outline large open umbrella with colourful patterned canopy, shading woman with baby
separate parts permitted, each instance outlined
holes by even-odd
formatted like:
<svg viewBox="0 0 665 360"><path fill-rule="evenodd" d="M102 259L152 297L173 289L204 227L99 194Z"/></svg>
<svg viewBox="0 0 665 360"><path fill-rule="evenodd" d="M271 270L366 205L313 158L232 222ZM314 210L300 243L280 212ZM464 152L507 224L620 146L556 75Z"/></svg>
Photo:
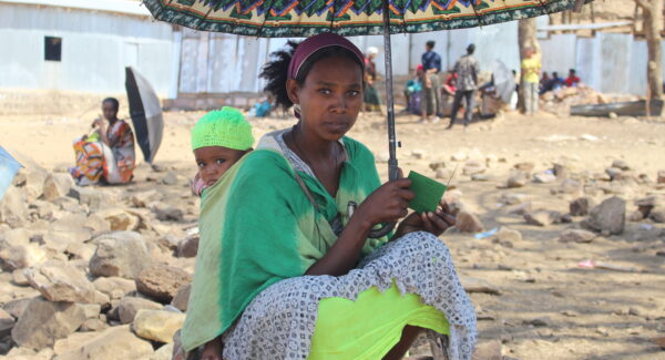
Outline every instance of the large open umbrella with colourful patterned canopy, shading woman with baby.
<svg viewBox="0 0 665 360"><path fill-rule="evenodd" d="M383 35L388 176L398 177L390 34L489 25L580 10L593 0L143 0L157 20L201 31L265 38ZM395 225L395 224L392 224ZM389 226L383 230L390 230ZM386 234L388 232L385 232ZM377 233L377 235L380 233Z"/></svg>

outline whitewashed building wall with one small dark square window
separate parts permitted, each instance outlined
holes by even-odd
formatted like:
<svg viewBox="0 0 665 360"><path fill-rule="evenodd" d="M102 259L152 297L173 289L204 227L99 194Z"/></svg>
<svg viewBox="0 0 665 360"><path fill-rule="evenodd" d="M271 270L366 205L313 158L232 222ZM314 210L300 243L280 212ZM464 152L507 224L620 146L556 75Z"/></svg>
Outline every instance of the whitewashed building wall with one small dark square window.
<svg viewBox="0 0 665 360"><path fill-rule="evenodd" d="M60 62L44 61L44 37L62 38ZM122 93L132 65L158 94L175 93L173 37L144 17L1 3L0 88Z"/></svg>

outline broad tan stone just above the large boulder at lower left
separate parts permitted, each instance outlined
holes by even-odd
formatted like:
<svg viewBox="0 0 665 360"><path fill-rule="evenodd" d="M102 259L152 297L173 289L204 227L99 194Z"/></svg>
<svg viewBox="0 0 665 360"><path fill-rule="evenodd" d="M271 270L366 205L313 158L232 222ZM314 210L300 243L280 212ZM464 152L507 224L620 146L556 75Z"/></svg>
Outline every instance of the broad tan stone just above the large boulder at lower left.
<svg viewBox="0 0 665 360"><path fill-rule="evenodd" d="M49 301L94 302L92 282L82 271L64 261L49 260L27 269L25 277Z"/></svg>

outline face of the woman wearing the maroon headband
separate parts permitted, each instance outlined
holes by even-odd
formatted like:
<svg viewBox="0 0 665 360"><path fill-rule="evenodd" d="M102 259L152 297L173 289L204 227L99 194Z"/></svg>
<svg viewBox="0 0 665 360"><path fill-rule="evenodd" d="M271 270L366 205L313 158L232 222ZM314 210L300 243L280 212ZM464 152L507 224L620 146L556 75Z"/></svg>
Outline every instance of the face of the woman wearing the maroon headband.
<svg viewBox="0 0 665 360"><path fill-rule="evenodd" d="M362 106L362 70L347 56L325 58L311 66L303 85L289 80L287 90L300 105L306 131L338 141L351 130Z"/></svg>

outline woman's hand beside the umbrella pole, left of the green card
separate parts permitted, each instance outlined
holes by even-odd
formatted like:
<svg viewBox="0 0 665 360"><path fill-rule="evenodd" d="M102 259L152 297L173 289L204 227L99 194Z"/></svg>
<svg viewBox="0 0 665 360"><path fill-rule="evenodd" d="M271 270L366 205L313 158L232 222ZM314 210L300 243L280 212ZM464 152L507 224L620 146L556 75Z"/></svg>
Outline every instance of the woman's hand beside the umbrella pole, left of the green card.
<svg viewBox="0 0 665 360"><path fill-rule="evenodd" d="M352 217L364 220L370 228L380 223L397 222L407 216L409 202L416 194L409 189L408 178L393 179L381 185L362 202Z"/></svg>

